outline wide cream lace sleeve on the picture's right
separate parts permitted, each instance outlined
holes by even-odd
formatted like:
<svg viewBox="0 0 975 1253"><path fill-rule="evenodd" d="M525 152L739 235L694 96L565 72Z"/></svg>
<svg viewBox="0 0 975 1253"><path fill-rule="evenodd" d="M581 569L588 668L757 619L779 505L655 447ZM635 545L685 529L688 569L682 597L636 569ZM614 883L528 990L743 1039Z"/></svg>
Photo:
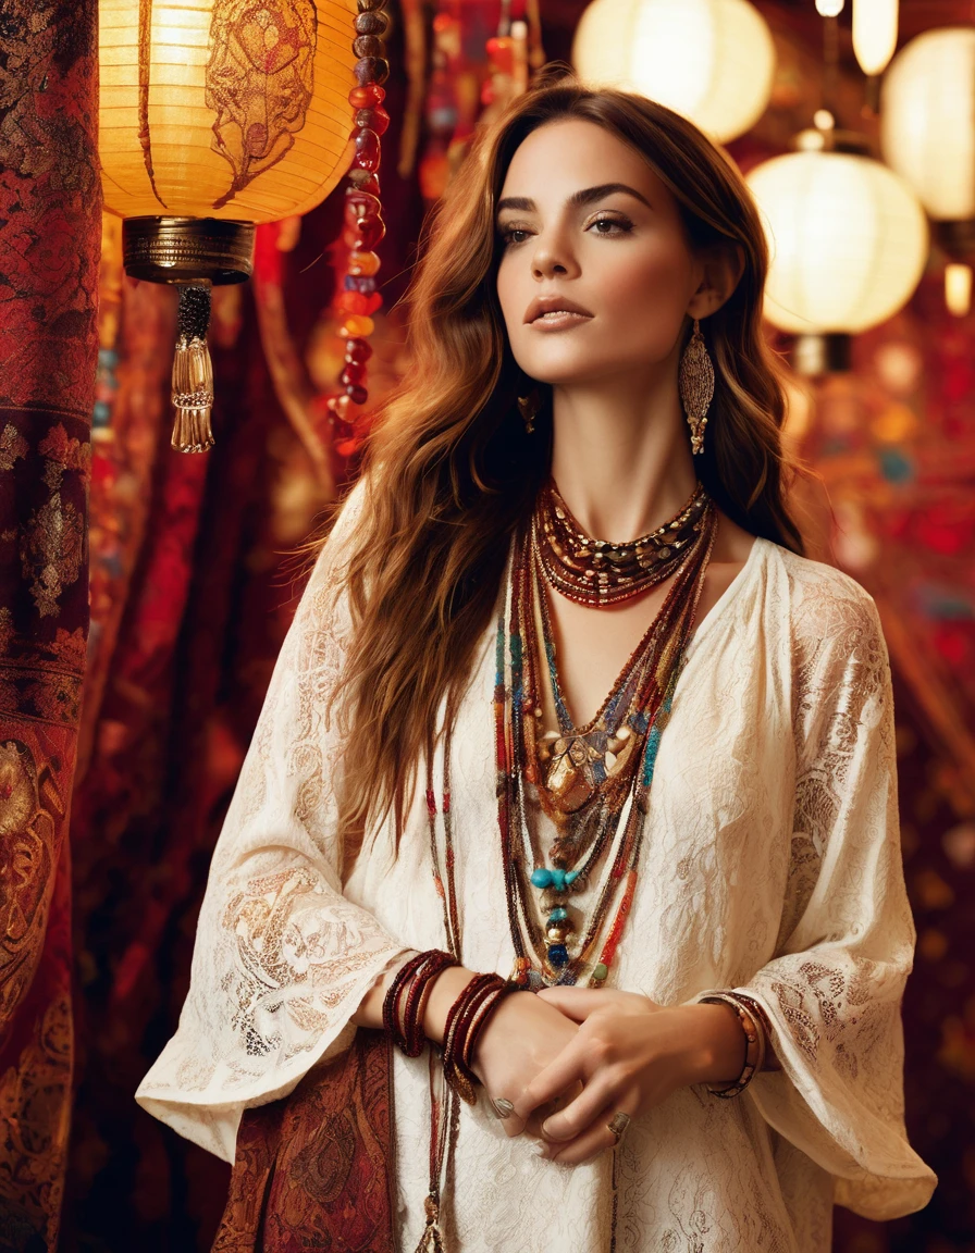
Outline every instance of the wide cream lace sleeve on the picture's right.
<svg viewBox="0 0 975 1253"><path fill-rule="evenodd" d="M778 1073L764 1119L873 1219L921 1209L935 1177L904 1125L901 996L915 930L904 885L890 665L876 605L823 571L793 584L796 798L776 959L741 987Z"/></svg>

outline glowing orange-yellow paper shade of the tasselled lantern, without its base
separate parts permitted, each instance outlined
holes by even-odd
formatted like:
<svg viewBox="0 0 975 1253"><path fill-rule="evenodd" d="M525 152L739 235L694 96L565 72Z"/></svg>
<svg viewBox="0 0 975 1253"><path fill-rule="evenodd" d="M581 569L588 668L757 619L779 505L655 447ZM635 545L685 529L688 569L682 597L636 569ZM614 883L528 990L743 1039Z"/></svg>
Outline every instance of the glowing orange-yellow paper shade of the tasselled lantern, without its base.
<svg viewBox="0 0 975 1253"><path fill-rule="evenodd" d="M352 160L355 0L99 3L105 205L273 222Z"/></svg>

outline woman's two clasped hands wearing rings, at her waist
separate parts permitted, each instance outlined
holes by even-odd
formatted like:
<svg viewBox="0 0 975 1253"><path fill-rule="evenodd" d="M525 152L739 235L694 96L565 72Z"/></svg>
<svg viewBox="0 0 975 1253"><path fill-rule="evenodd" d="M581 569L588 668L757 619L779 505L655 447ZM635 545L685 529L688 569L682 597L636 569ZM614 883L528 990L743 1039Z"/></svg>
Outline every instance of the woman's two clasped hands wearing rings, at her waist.
<svg viewBox="0 0 975 1253"><path fill-rule="evenodd" d="M742 1032L719 1005L663 1007L639 992L546 987L508 996L484 1030L474 1069L503 1125L541 1141L539 1155L588 1162L618 1141L615 1114L638 1118L675 1089L731 1083Z"/></svg>

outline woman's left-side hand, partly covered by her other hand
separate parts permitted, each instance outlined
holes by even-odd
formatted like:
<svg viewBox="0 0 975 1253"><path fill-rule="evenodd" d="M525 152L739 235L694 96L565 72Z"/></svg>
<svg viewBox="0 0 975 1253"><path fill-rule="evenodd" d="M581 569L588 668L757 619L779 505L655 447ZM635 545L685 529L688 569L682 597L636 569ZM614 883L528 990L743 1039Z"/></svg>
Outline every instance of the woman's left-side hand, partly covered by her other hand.
<svg viewBox="0 0 975 1253"><path fill-rule="evenodd" d="M515 1109L528 1085L560 1056L579 1034L575 1022L531 992L511 992L488 1020L471 1059L472 1070L493 1099L510 1100ZM574 1095L579 1085L566 1084ZM561 1096L563 1091L554 1094ZM528 1131L541 1135L541 1121L558 1108L558 1100L534 1101L524 1116L501 1119L508 1135Z"/></svg>

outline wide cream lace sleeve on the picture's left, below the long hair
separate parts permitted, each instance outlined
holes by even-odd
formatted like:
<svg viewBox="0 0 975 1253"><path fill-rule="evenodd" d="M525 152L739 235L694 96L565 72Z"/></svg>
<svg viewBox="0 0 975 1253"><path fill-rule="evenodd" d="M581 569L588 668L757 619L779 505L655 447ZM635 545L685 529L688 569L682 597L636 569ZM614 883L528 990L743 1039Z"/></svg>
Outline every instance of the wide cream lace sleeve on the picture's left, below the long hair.
<svg viewBox="0 0 975 1253"><path fill-rule="evenodd" d="M326 702L348 611L346 501L298 605L211 865L179 1027L137 1091L150 1114L228 1162L243 1110L289 1093L347 1046L363 994L406 950L341 891L340 728Z"/></svg>

